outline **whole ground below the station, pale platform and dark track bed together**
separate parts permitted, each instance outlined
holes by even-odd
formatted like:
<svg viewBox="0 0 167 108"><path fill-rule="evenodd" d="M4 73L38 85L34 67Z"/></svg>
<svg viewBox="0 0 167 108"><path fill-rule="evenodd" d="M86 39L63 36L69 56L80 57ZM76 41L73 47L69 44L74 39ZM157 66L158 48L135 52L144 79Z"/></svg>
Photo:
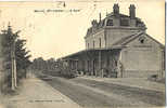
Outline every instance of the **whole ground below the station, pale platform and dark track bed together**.
<svg viewBox="0 0 167 108"><path fill-rule="evenodd" d="M145 82L138 85L134 81L128 85L125 83L128 81L127 79L91 77L65 79L48 75L43 77L31 75L23 81L18 95L7 98L5 105L9 105L7 108L147 108L165 106L165 84L149 82L149 83L144 80L136 80L136 82Z"/></svg>

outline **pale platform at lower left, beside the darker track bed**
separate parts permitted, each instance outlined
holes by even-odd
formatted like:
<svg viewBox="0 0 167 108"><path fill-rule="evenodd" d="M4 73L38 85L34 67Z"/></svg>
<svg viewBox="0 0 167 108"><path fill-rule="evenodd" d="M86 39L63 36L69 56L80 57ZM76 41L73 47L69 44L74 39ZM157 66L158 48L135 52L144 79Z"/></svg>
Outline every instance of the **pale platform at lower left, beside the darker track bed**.
<svg viewBox="0 0 167 108"><path fill-rule="evenodd" d="M17 94L5 96L0 108L79 108L79 106L44 81L31 77L23 80Z"/></svg>

